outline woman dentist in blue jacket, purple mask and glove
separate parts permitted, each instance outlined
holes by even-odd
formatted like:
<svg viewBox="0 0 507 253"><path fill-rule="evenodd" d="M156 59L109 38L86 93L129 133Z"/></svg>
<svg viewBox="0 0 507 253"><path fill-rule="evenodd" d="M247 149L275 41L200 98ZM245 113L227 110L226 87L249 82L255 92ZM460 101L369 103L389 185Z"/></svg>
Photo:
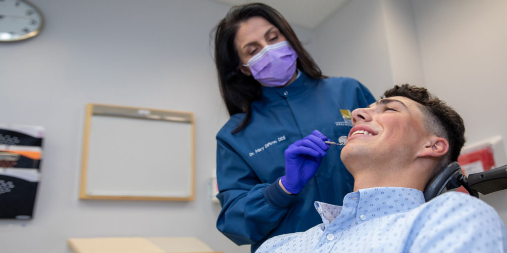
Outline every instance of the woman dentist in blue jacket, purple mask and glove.
<svg viewBox="0 0 507 253"><path fill-rule="evenodd" d="M216 227L253 252L268 238L321 223L314 201L342 204L353 178L340 160L341 146L323 141L348 135L350 112L375 99L355 79L322 75L291 26L267 5L231 8L213 36L231 116L216 135L222 205ZM297 145L308 142L315 149ZM322 149L327 152L316 151ZM301 159L315 152L317 158Z"/></svg>

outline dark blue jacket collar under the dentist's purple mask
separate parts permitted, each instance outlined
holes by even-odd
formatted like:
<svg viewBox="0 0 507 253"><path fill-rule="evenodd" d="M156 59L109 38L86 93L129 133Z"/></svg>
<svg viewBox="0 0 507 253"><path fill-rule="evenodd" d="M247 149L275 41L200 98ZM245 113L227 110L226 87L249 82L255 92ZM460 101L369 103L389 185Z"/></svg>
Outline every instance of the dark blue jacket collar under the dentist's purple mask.
<svg viewBox="0 0 507 253"><path fill-rule="evenodd" d="M278 100L292 97L306 91L308 87L315 85L312 79L303 71L297 70L296 80L285 87L265 87L261 86L263 100Z"/></svg>

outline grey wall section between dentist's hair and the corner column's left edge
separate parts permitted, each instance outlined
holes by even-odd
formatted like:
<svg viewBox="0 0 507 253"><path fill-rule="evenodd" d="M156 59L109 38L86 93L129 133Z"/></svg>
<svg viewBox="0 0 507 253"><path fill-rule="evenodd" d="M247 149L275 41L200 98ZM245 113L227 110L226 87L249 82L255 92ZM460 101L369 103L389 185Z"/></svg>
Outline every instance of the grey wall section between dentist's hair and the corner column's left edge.
<svg viewBox="0 0 507 253"><path fill-rule="evenodd" d="M312 56L328 76L354 77L378 97L392 83L381 2L351 1L315 29Z"/></svg>

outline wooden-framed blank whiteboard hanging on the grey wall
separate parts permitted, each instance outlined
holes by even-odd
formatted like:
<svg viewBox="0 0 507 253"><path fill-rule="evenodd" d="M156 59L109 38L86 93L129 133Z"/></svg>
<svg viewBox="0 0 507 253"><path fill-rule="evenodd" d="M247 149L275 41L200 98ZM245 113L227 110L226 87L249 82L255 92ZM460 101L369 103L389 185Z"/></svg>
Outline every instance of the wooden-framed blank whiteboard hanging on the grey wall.
<svg viewBox="0 0 507 253"><path fill-rule="evenodd" d="M86 107L81 199L193 200L194 115Z"/></svg>

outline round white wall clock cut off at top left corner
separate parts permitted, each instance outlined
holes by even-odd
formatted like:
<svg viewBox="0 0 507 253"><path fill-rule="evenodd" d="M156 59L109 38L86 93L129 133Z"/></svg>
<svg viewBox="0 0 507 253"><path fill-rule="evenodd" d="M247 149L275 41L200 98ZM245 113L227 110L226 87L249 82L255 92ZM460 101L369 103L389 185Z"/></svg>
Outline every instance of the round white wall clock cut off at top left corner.
<svg viewBox="0 0 507 253"><path fill-rule="evenodd" d="M0 0L0 41L16 41L39 34L42 15L21 0Z"/></svg>

